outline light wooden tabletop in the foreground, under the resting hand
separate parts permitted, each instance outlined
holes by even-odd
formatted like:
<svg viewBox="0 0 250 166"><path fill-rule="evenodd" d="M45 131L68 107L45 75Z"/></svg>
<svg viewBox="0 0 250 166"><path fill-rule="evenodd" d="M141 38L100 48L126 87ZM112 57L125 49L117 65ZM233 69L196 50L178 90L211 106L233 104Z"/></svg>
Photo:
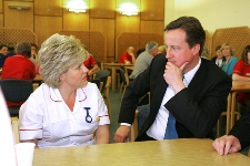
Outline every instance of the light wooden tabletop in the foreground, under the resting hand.
<svg viewBox="0 0 250 166"><path fill-rule="evenodd" d="M131 142L36 149L33 166L249 166L250 158L234 153L220 156L211 139Z"/></svg>

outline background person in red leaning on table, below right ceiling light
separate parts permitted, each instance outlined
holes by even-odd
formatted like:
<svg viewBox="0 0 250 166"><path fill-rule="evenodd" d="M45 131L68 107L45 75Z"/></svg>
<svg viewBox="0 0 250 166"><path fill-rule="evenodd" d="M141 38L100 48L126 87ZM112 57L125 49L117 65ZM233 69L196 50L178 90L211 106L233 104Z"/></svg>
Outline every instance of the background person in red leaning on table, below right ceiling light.
<svg viewBox="0 0 250 166"><path fill-rule="evenodd" d="M136 62L134 48L129 46L126 52L123 52L120 56L119 63L121 64L132 64Z"/></svg>

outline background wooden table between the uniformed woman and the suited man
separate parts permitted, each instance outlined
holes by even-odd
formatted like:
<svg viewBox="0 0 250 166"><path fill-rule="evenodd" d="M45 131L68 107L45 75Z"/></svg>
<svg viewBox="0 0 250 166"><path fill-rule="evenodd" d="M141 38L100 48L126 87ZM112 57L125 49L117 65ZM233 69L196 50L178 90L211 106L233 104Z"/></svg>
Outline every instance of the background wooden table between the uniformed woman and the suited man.
<svg viewBox="0 0 250 166"><path fill-rule="evenodd" d="M102 63L103 69L108 69L111 70L111 79L112 79L112 83L111 83L111 87L112 87L112 92L116 91L116 71L120 69L121 65L123 66L133 66L133 64L121 64L121 63Z"/></svg>

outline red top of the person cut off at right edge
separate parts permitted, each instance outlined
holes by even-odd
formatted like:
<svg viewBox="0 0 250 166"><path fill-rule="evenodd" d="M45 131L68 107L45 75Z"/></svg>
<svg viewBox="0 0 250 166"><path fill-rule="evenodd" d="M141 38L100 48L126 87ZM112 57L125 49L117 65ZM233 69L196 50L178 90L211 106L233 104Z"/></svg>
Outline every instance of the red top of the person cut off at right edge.
<svg viewBox="0 0 250 166"><path fill-rule="evenodd" d="M233 73L250 77L250 65L246 64L243 60L239 60L233 68ZM246 102L250 101L250 93L239 92L237 98L239 103L246 104Z"/></svg>

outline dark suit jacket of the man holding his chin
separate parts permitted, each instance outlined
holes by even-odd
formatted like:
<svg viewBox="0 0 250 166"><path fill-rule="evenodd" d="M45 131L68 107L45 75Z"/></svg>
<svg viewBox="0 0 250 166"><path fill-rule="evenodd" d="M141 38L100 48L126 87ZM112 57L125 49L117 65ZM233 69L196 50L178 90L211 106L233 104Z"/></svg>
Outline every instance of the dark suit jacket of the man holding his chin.
<svg viewBox="0 0 250 166"><path fill-rule="evenodd" d="M149 129L159 112L168 84L163 79L167 59L157 55L150 66L126 89L119 123L132 124L138 100L150 91L150 114L136 141ZM170 98L166 108L176 117L179 138L214 138L212 128L222 111L231 90L231 79L214 63L201 59L201 65L187 89Z"/></svg>

